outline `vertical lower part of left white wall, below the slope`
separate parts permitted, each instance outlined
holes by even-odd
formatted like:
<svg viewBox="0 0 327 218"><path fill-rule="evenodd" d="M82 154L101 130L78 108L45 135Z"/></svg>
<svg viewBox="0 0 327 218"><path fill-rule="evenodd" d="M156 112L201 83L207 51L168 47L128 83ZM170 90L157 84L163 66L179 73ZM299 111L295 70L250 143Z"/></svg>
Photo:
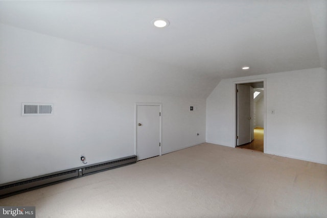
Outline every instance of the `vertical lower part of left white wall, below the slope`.
<svg viewBox="0 0 327 218"><path fill-rule="evenodd" d="M205 99L1 86L0 102L0 184L133 155L135 102L162 103L163 154L205 141ZM54 115L21 116L21 102Z"/></svg>

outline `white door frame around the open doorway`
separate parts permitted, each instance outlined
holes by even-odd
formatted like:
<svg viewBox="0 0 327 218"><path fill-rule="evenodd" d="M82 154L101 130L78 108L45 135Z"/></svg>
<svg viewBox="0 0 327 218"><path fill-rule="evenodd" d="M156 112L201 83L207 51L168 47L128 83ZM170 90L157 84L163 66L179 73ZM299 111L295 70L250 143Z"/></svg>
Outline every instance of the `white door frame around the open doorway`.
<svg viewBox="0 0 327 218"><path fill-rule="evenodd" d="M262 78L262 79L255 79L255 80L240 80L240 81L233 81L233 111L234 111L234 116L233 116L233 126L234 126L234 140L235 140L235 147L237 147L237 104L236 104L236 101L237 101L237 98L236 98L236 95L237 95L237 90L236 90L236 84L243 84L243 83L255 83L255 82L264 82L264 131L265 131L265 134L264 134L264 153L266 153L267 151L267 133L269 130L267 130L267 85L266 85L266 78Z"/></svg>

